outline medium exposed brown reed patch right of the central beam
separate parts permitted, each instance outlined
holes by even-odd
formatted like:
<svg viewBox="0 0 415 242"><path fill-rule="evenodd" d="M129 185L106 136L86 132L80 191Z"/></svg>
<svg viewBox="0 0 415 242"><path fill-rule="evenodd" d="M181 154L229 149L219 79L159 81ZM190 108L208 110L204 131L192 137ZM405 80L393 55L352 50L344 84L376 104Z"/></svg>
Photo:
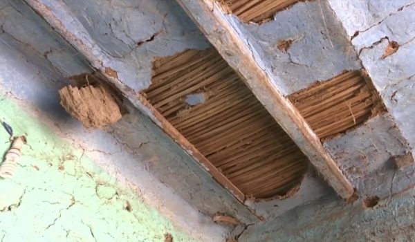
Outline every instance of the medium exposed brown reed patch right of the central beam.
<svg viewBox="0 0 415 242"><path fill-rule="evenodd" d="M384 111L364 71L347 71L289 98L320 138L344 132Z"/></svg>

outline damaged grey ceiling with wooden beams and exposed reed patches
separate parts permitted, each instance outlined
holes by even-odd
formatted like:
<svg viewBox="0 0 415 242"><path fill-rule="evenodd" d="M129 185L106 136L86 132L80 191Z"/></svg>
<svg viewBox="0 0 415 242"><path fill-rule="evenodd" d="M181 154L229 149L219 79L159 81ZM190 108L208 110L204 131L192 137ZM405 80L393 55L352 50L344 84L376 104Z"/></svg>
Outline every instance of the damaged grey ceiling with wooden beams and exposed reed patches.
<svg viewBox="0 0 415 242"><path fill-rule="evenodd" d="M353 8L369 8L340 0L25 2L237 198L220 212L264 221L325 196L326 184L346 200L409 185L415 68L403 62L412 38L388 30L398 15L370 15L380 24L369 28L350 21ZM414 18L409 3L388 8ZM45 54L69 66L55 55ZM394 160L400 171L387 165Z"/></svg>

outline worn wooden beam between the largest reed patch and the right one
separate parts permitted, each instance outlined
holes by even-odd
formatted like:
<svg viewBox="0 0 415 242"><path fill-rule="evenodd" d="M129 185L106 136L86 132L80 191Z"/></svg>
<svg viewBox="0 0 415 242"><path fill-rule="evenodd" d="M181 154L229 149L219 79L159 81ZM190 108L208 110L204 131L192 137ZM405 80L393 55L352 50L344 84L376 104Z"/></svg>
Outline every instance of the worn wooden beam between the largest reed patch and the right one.
<svg viewBox="0 0 415 242"><path fill-rule="evenodd" d="M255 51L243 40L237 26L225 16L221 7L212 0L176 0L199 26L228 64L246 82L268 112L308 156L311 163L342 196L349 198L354 189L342 174L333 158L327 153L320 139L313 133L295 106L273 84L272 77L261 68Z"/></svg>

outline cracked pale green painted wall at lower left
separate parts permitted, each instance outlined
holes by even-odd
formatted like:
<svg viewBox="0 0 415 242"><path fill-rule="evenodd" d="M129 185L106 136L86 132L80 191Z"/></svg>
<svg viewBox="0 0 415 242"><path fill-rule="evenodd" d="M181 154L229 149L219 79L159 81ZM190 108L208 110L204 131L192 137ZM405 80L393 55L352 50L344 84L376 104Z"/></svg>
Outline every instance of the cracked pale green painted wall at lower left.
<svg viewBox="0 0 415 242"><path fill-rule="evenodd" d="M2 96L0 118L28 136L15 176L0 178L0 241L196 241ZM0 129L0 153L9 145Z"/></svg>

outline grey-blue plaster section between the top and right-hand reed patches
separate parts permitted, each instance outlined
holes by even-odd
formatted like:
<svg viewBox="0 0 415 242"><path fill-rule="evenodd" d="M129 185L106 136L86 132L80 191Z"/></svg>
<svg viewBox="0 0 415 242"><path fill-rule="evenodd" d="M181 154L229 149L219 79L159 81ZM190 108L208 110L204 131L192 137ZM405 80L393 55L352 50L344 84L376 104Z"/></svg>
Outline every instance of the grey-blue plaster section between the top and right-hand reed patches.
<svg viewBox="0 0 415 242"><path fill-rule="evenodd" d="M277 12L266 24L240 24L240 28L285 95L361 68L326 1L300 2ZM283 40L292 41L287 51L278 48Z"/></svg>

